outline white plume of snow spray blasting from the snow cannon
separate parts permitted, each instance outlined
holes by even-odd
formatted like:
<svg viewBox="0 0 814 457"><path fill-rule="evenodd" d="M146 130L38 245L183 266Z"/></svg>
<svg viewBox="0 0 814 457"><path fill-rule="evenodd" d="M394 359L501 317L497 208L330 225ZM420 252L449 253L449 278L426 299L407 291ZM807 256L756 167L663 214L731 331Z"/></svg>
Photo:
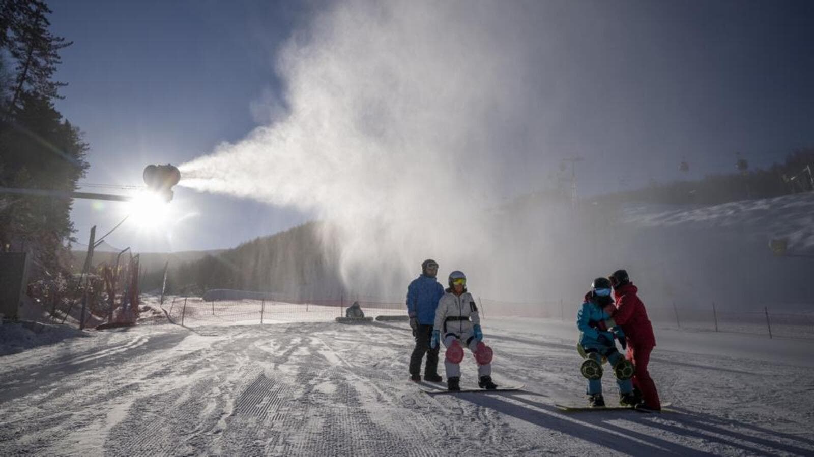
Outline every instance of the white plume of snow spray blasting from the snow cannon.
<svg viewBox="0 0 814 457"><path fill-rule="evenodd" d="M528 99L523 33L536 24L523 10L341 2L279 55L287 116L182 164L181 185L330 221L357 290L402 294L428 257L441 277L485 281L505 243L485 213L516 185L504 163L535 147L527 122L544 116Z"/></svg>

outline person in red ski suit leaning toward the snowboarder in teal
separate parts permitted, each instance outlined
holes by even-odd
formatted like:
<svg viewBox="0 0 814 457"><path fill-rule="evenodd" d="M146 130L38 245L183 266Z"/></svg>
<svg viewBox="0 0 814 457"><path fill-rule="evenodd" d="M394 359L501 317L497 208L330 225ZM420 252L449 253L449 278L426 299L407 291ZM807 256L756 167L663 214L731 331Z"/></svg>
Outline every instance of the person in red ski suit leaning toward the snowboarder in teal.
<svg viewBox="0 0 814 457"><path fill-rule="evenodd" d="M627 359L636 368L633 374L633 387L641 392L644 407L655 411L661 410L659 392L647 372L647 363L650 362L650 352L656 346L653 334L653 325L647 317L645 304L639 299L639 289L630 282L628 272L616 270L608 276L613 285L615 307L611 318L622 328L628 340Z"/></svg>

